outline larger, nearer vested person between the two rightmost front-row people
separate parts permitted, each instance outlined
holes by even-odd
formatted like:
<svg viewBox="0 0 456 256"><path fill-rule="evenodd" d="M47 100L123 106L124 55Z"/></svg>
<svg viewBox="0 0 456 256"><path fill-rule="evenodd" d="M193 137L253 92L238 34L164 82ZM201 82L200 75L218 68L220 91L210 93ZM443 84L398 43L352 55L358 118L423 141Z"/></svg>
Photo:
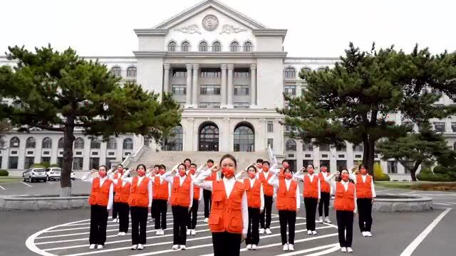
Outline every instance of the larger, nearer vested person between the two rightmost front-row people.
<svg viewBox="0 0 456 256"><path fill-rule="evenodd" d="M315 213L316 206L320 200L320 180L318 176L314 174L314 165L309 164L307 166L307 174L301 175L296 174L295 178L297 181L303 181L304 183L304 206L306 207L306 228L307 235L316 235L315 229ZM301 171L304 171L301 169Z"/></svg>

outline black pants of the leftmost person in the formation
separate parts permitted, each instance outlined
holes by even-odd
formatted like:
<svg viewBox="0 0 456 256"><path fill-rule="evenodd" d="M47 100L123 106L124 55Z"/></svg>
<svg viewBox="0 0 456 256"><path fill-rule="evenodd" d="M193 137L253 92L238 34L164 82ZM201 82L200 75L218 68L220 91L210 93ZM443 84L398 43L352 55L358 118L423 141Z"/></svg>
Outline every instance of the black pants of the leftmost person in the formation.
<svg viewBox="0 0 456 256"><path fill-rule="evenodd" d="M106 206L90 206L90 245L105 245L108 209Z"/></svg>

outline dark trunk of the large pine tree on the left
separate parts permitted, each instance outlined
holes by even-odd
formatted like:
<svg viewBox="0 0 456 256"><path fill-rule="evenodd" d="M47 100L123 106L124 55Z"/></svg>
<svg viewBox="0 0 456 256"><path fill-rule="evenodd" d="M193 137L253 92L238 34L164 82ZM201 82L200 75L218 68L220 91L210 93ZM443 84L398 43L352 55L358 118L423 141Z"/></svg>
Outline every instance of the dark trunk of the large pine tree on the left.
<svg viewBox="0 0 456 256"><path fill-rule="evenodd" d="M71 169L73 165L74 126L66 125L63 128L63 166L61 172L60 196L71 196Z"/></svg>

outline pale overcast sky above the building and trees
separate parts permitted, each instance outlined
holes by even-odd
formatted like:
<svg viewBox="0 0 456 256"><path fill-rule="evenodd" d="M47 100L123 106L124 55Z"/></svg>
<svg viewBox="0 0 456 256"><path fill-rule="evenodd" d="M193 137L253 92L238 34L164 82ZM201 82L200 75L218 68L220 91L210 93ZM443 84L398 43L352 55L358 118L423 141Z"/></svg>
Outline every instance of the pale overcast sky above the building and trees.
<svg viewBox="0 0 456 256"><path fill-rule="evenodd" d="M456 50L456 1L221 0L269 28L286 28L289 57L338 57L353 41L432 53ZM1 1L0 55L8 46L71 46L79 55L133 55L133 28L152 28L199 0Z"/></svg>

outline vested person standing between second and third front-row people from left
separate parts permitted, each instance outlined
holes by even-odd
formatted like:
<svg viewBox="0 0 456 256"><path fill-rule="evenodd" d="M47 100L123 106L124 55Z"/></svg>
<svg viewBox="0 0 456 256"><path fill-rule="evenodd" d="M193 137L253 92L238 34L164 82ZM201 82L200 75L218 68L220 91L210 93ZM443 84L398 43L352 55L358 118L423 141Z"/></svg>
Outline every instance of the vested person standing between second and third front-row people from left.
<svg viewBox="0 0 456 256"><path fill-rule="evenodd" d="M171 185L165 181L163 175L166 173L164 165L157 165L157 169L150 172L150 181L153 187L152 208L155 213L155 235L165 235L167 203L170 200Z"/></svg>

